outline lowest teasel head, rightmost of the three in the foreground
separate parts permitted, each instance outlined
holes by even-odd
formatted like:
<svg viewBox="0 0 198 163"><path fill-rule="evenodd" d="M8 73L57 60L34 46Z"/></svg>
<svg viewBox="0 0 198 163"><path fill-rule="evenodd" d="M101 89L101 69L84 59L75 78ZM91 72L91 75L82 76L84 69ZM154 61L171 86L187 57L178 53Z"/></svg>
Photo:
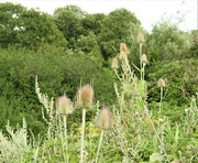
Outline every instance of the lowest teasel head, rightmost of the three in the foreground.
<svg viewBox="0 0 198 163"><path fill-rule="evenodd" d="M108 108L103 108L100 110L98 115L98 119L96 126L102 130L111 129L113 121L113 116Z"/></svg>

